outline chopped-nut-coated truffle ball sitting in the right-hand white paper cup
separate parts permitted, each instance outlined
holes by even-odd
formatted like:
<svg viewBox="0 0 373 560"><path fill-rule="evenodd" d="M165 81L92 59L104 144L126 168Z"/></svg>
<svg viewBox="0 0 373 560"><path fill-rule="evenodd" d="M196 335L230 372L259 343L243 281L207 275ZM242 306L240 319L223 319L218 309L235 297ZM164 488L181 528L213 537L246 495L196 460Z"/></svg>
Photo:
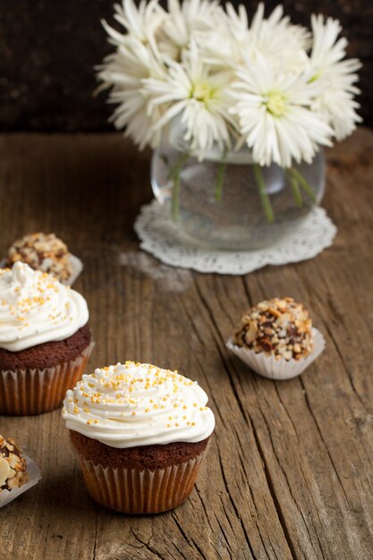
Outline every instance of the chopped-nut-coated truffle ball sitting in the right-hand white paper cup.
<svg viewBox="0 0 373 560"><path fill-rule="evenodd" d="M276 360L301 360L313 349L312 322L308 310L292 298L261 301L242 317L233 343Z"/></svg>

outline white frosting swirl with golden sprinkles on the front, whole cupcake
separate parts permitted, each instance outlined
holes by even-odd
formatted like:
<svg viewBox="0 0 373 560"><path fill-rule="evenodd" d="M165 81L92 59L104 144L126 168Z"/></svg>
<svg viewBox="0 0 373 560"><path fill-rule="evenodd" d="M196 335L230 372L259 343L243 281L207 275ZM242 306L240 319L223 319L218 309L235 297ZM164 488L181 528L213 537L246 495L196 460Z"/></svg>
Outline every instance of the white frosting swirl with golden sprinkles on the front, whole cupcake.
<svg viewBox="0 0 373 560"><path fill-rule="evenodd" d="M215 419L208 395L176 371L133 361L96 369L67 391L66 428L111 447L196 443Z"/></svg>

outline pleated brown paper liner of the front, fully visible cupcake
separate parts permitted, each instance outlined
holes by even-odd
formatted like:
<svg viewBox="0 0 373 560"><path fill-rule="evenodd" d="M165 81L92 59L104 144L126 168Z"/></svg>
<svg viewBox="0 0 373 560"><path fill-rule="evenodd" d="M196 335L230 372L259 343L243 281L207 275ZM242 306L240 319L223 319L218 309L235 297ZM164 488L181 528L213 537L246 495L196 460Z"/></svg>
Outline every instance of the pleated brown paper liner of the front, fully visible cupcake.
<svg viewBox="0 0 373 560"><path fill-rule="evenodd" d="M104 467L81 454L78 459L89 494L98 504L122 513L161 513L190 496L206 452L155 471Z"/></svg>

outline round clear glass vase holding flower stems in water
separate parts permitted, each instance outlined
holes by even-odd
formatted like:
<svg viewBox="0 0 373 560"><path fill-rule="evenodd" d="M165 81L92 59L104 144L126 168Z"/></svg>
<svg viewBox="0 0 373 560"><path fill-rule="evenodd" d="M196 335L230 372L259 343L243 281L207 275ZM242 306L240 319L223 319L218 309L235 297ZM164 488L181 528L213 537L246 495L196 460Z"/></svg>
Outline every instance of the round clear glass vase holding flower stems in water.
<svg viewBox="0 0 373 560"><path fill-rule="evenodd" d="M180 143L164 143L153 153L151 184L194 242L256 250L294 232L320 202L325 159L319 151L311 164L259 167L247 148L225 155L216 148L199 161Z"/></svg>

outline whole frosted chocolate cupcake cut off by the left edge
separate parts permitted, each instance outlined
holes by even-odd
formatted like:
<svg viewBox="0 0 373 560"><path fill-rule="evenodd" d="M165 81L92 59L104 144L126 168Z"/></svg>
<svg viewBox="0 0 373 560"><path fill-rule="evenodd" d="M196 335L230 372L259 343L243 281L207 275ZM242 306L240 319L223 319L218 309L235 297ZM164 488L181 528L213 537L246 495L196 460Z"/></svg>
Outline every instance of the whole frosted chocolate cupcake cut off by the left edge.
<svg viewBox="0 0 373 560"><path fill-rule="evenodd" d="M0 414L52 411L81 378L93 343L87 303L53 276L0 269Z"/></svg>

